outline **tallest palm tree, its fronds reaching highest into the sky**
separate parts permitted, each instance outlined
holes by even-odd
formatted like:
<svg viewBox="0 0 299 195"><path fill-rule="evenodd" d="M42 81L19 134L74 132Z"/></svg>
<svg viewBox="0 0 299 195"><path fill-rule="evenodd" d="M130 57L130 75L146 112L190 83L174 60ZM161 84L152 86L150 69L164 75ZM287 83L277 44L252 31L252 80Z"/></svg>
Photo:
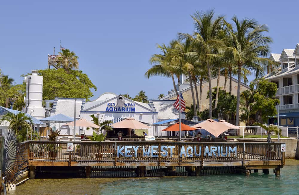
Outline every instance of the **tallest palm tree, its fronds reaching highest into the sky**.
<svg viewBox="0 0 299 195"><path fill-rule="evenodd" d="M195 39L196 51L200 55L201 62L207 66L208 81L209 81L209 116L212 118L212 84L211 84L211 68L217 58L215 40L219 39L219 33L222 30L222 21L224 16L219 15L214 18L214 10L200 13L196 11L191 16L195 25Z"/></svg>

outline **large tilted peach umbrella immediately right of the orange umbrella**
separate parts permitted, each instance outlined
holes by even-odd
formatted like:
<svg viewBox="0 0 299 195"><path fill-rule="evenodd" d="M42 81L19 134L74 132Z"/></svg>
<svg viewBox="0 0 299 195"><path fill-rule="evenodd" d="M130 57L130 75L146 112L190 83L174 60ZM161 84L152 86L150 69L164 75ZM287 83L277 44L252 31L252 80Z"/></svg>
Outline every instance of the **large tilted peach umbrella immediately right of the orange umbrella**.
<svg viewBox="0 0 299 195"><path fill-rule="evenodd" d="M205 121L202 121L199 124L193 125L191 127L197 129L204 129L208 131L210 134L214 135L215 137L218 137L219 135L221 135L221 133L231 128L221 122L214 121L213 119L210 118Z"/></svg>

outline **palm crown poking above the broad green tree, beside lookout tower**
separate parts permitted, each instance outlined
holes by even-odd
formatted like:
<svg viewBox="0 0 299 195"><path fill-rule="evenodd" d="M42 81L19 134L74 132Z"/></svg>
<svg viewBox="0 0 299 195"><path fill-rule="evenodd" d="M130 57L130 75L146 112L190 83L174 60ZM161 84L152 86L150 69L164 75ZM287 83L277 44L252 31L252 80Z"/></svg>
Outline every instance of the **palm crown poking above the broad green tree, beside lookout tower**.
<svg viewBox="0 0 299 195"><path fill-rule="evenodd" d="M79 63L75 52L71 52L69 49L62 49L61 51L59 52L57 66L65 69L68 73L71 69L77 69Z"/></svg>

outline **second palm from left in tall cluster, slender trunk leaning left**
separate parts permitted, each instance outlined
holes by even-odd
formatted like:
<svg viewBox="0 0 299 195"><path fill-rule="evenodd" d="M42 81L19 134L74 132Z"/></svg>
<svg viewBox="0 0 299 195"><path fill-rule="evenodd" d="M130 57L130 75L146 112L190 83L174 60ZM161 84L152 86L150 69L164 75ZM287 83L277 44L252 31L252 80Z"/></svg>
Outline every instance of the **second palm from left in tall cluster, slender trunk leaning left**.
<svg viewBox="0 0 299 195"><path fill-rule="evenodd" d="M185 40L184 43L177 42L175 47L177 54L173 56L173 60L176 63L180 64L182 70L184 71L184 74L188 75L193 105L196 105L194 91L193 91L192 75L193 72L195 71L195 62L198 57L198 54L197 52L194 52L191 35L188 34L186 35L187 36L181 36L181 38ZM196 106L194 106L194 116L197 116Z"/></svg>

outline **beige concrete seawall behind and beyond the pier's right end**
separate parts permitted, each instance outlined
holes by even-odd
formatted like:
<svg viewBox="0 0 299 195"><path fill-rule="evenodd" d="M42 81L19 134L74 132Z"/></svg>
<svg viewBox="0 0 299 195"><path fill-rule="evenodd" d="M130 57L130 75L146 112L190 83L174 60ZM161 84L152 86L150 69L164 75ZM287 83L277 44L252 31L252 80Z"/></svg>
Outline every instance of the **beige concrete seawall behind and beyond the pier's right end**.
<svg viewBox="0 0 299 195"><path fill-rule="evenodd" d="M267 141L266 138L237 138L237 140L247 141ZM278 141L277 138L272 138L272 141ZM297 138L280 138L280 142L286 142L285 158L299 159L299 140Z"/></svg>

